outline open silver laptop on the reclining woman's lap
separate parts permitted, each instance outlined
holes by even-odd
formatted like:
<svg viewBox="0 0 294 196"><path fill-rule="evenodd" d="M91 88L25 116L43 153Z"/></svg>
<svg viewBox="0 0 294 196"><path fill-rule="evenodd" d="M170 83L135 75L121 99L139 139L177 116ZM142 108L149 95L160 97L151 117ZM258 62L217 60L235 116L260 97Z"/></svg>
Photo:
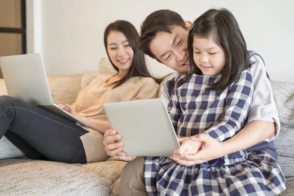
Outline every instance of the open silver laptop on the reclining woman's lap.
<svg viewBox="0 0 294 196"><path fill-rule="evenodd" d="M74 123L88 126L71 113L52 103L41 54L22 54L0 57L7 93L11 97L41 106Z"/></svg>

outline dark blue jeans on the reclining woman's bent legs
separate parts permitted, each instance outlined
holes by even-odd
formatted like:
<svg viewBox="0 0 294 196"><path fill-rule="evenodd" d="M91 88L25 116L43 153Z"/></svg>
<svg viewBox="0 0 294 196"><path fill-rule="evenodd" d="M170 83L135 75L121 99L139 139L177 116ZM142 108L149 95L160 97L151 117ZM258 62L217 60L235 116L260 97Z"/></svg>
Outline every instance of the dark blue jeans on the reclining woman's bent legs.
<svg viewBox="0 0 294 196"><path fill-rule="evenodd" d="M86 163L77 124L24 100L0 96L0 138L5 135L27 156L64 163Z"/></svg>

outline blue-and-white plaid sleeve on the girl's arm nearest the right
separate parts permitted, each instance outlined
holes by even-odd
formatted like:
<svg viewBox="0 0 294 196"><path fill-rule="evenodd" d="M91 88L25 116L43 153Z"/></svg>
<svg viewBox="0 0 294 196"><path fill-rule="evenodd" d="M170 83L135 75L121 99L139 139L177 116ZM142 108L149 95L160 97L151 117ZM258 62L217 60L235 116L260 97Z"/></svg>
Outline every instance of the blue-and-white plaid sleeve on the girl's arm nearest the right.
<svg viewBox="0 0 294 196"><path fill-rule="evenodd" d="M204 131L219 142L233 137L243 126L253 98L252 75L245 70L230 86L220 121Z"/></svg>

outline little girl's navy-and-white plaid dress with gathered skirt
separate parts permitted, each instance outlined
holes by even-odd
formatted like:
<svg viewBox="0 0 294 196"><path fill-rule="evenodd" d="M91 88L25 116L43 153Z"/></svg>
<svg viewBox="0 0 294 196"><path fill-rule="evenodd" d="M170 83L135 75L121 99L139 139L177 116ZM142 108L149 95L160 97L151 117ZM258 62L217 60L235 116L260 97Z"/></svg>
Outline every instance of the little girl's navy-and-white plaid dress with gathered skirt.
<svg viewBox="0 0 294 196"><path fill-rule="evenodd" d="M177 135L205 133L222 142L240 131L253 98L250 71L243 71L222 92L207 89L221 79L221 74L186 77L175 79L186 82L174 89L168 106ZM146 157L144 171L150 196L269 196L286 189L276 160L259 150L241 150L190 167L169 157Z"/></svg>

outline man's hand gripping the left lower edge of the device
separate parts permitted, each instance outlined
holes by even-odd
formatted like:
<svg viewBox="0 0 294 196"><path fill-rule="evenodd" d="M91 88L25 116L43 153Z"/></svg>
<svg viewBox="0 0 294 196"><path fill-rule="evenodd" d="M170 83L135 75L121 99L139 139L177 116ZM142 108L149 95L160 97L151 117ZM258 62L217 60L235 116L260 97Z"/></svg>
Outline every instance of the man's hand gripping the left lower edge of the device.
<svg viewBox="0 0 294 196"><path fill-rule="evenodd" d="M105 146L105 150L109 156L119 156L121 160L131 161L136 156L126 156L123 150L123 142L117 142L116 140L121 139L122 136L117 134L115 130L108 129L104 133L104 141L103 144Z"/></svg>

